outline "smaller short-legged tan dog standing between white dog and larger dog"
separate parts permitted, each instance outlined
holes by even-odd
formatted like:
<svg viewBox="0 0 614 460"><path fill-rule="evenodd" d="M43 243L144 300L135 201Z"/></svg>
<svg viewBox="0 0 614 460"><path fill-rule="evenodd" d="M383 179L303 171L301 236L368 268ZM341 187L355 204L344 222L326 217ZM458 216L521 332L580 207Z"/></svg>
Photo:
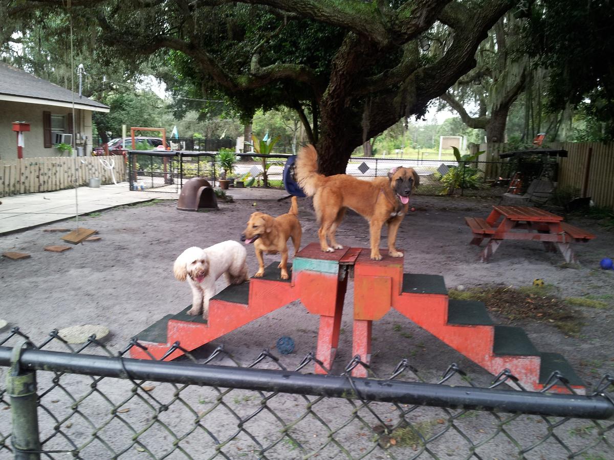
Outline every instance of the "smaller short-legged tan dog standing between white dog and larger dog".
<svg viewBox="0 0 614 460"><path fill-rule="evenodd" d="M272 217L262 212L254 212L247 221L247 228L241 236L241 241L254 243L256 257L258 258L258 272L255 277L262 277L265 273L265 261L262 253L277 254L281 253L281 279L287 280L288 275L288 245L287 240L292 238L294 253L298 252L301 245L301 235L303 233L301 224L297 219L298 203L297 197L292 197L292 204L287 214Z"/></svg>

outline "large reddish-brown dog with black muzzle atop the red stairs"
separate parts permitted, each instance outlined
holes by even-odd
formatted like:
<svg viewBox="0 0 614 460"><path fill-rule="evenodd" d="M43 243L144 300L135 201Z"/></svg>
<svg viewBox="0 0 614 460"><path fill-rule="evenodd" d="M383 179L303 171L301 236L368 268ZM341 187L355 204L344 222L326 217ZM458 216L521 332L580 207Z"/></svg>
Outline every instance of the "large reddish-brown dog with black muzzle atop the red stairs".
<svg viewBox="0 0 614 460"><path fill-rule="evenodd" d="M382 258L379 239L384 223L388 223L388 255L403 257L394 243L398 227L407 213L411 193L419 185L416 171L396 167L389 172L388 177L376 177L372 181L348 174L327 177L317 172L317 152L313 145L308 145L298 153L296 176L305 194L313 196L314 209L320 222L317 234L322 251L333 252L343 248L336 242L335 232L343 220L346 208L350 208L369 222L371 259Z"/></svg>

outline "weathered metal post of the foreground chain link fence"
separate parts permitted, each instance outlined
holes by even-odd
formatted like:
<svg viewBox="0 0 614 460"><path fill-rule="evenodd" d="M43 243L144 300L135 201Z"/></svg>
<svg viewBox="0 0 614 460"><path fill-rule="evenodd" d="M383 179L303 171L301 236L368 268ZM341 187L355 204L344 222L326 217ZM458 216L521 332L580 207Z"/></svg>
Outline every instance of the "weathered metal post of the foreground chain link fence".
<svg viewBox="0 0 614 460"><path fill-rule="evenodd" d="M34 348L29 340L23 340L13 348L10 370L6 376L6 393L10 398L12 420L12 444L15 460L39 460L41 441L38 427L38 396L36 394L36 371L20 367L21 351Z"/></svg>

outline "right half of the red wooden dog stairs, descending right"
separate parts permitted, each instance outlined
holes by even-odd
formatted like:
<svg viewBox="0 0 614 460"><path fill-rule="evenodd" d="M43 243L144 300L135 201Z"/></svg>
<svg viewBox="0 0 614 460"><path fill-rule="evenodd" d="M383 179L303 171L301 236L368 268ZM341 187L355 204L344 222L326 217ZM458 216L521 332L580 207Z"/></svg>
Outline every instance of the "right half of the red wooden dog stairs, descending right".
<svg viewBox="0 0 614 460"><path fill-rule="evenodd" d="M363 250L354 265L353 354L363 361L370 361L371 321L392 307L491 374L510 369L521 385L538 391L558 370L578 393L585 389L563 356L540 353L521 328L494 324L483 302L449 299L443 277L404 274L403 259L371 261L368 256ZM366 375L361 367L355 370Z"/></svg>

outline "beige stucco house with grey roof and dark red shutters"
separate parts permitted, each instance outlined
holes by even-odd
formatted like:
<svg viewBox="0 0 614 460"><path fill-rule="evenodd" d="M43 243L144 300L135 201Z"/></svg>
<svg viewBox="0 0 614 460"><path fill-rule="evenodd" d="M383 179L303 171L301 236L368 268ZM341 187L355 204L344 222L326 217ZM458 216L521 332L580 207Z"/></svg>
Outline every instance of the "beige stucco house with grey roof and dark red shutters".
<svg viewBox="0 0 614 460"><path fill-rule="evenodd" d="M55 148L60 142L91 155L92 112L109 107L0 62L0 161L17 158L14 121L30 124L23 134L23 158L60 156Z"/></svg>

